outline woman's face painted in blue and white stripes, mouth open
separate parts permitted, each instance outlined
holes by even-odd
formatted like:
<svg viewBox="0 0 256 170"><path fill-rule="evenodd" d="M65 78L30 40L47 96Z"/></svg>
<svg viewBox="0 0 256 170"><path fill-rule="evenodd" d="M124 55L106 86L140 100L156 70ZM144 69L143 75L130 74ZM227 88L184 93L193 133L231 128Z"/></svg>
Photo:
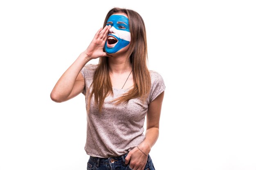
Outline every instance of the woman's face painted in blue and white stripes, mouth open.
<svg viewBox="0 0 256 170"><path fill-rule="evenodd" d="M124 15L111 15L107 25L112 27L109 30L108 38L105 43L106 53L116 53L120 49L130 44L131 35L128 18Z"/></svg>

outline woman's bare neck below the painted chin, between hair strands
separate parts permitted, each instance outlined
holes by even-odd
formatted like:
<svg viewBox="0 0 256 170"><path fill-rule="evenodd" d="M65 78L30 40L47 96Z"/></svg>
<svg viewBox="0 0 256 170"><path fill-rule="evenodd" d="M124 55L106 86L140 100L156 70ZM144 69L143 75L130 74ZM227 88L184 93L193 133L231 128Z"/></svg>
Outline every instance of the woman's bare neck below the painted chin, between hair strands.
<svg viewBox="0 0 256 170"><path fill-rule="evenodd" d="M132 64L128 56L109 57L108 64L110 73L121 74L132 70Z"/></svg>

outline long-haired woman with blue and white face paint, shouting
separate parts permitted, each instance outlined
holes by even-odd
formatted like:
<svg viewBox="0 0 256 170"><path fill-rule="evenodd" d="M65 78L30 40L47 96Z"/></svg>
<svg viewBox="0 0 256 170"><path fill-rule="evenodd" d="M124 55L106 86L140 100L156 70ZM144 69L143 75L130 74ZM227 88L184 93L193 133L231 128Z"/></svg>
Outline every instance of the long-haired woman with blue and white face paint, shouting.
<svg viewBox="0 0 256 170"><path fill-rule="evenodd" d="M88 170L154 170L148 154L158 138L165 86L146 66L144 21L135 11L113 8L103 26L58 80L51 98L64 102L85 95ZM96 58L99 64L87 64Z"/></svg>

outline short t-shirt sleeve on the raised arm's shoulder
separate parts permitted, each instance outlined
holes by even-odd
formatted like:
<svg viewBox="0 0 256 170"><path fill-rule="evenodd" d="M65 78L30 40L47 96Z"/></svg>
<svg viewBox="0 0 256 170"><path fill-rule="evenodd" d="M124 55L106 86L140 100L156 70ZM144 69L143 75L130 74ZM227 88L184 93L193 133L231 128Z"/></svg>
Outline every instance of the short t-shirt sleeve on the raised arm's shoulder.
<svg viewBox="0 0 256 170"><path fill-rule="evenodd" d="M97 68L97 65L95 65L95 64L86 64L80 71L80 73L83 75L83 78L85 80L85 88L82 92L83 95L85 95L87 89L92 84L93 75L94 75L96 68Z"/></svg>

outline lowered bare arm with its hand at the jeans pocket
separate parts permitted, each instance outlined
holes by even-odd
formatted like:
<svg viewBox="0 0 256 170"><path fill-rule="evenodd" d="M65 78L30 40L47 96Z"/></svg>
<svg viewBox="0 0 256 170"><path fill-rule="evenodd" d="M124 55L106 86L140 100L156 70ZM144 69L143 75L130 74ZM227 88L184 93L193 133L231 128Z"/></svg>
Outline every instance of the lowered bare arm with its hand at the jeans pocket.
<svg viewBox="0 0 256 170"><path fill-rule="evenodd" d="M126 157L126 164L130 161L130 167L135 170L144 169L152 146L157 141L159 135L159 119L164 99L164 92L158 95L153 102L148 105L147 112L147 130L145 140L137 147L131 150ZM144 153L146 155L144 155Z"/></svg>

